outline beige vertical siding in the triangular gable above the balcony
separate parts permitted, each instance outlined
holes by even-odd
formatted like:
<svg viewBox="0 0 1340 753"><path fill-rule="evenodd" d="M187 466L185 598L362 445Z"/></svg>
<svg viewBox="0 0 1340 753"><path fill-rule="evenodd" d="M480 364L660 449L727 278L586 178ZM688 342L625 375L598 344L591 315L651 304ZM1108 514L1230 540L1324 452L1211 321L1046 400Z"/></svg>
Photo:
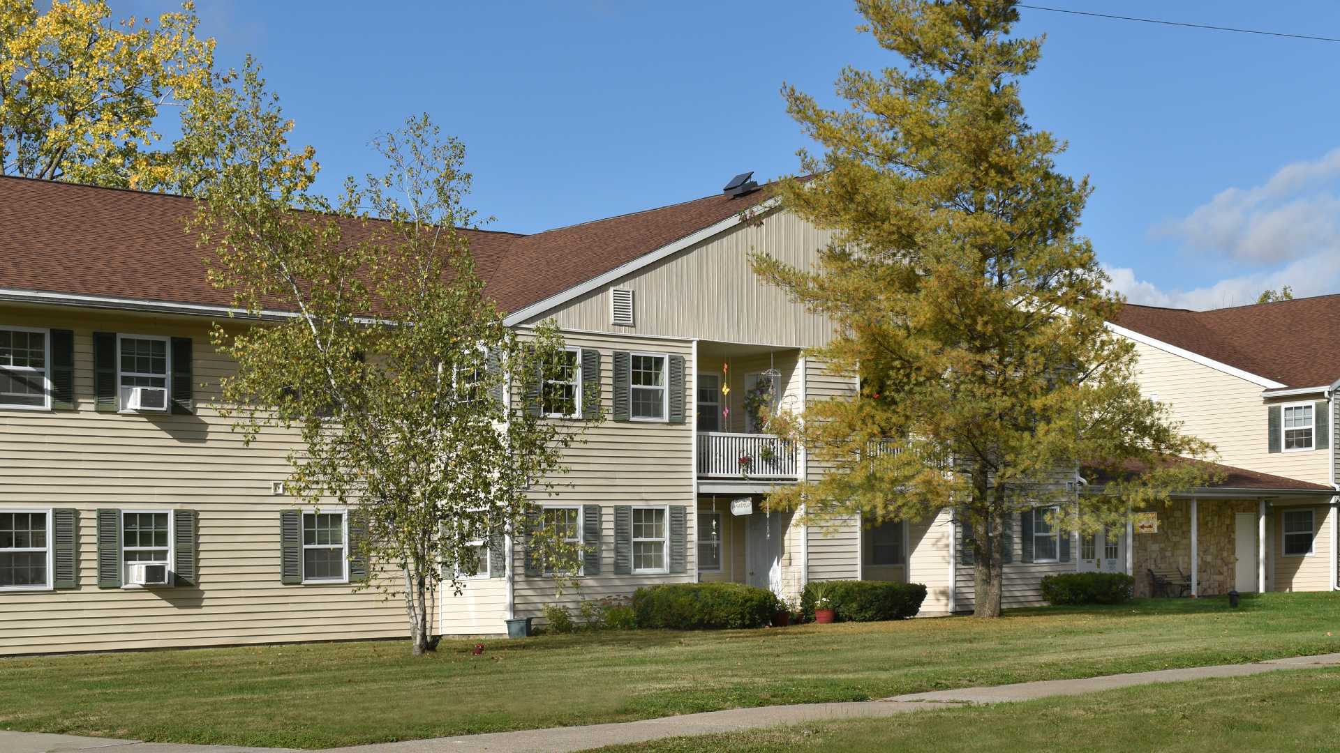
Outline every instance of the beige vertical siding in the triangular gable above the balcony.
<svg viewBox="0 0 1340 753"><path fill-rule="evenodd" d="M749 265L749 253L760 251L808 269L831 240L829 232L773 212L757 225L725 230L529 322L552 316L568 330L821 346L832 336L832 322L764 284ZM632 327L610 324L610 288L634 291Z"/></svg>

